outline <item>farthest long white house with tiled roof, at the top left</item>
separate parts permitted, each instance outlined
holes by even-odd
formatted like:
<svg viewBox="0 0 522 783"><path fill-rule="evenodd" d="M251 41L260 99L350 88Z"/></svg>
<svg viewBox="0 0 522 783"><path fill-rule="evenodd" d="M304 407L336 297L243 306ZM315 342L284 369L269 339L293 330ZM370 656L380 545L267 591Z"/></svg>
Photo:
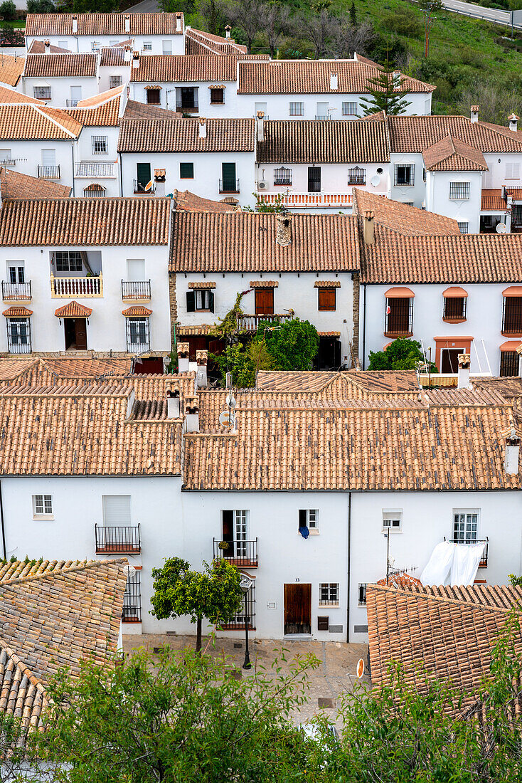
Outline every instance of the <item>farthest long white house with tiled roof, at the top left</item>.
<svg viewBox="0 0 522 783"><path fill-rule="evenodd" d="M27 51L34 39L70 52L99 52L131 39L132 48L150 54L184 52L182 13L28 13Z"/></svg>

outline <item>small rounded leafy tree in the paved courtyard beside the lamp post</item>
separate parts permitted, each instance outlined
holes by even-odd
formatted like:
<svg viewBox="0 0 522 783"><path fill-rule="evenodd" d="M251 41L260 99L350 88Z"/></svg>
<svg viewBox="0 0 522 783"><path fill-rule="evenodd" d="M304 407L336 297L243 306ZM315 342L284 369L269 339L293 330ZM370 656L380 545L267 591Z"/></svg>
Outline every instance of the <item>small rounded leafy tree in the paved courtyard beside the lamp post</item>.
<svg viewBox="0 0 522 783"><path fill-rule="evenodd" d="M190 615L196 622L196 652L201 650L203 618L223 622L237 612L243 593L239 571L226 560L203 563L203 572L191 571L181 557L169 557L163 568L153 568L154 594L150 599L152 615L158 619Z"/></svg>

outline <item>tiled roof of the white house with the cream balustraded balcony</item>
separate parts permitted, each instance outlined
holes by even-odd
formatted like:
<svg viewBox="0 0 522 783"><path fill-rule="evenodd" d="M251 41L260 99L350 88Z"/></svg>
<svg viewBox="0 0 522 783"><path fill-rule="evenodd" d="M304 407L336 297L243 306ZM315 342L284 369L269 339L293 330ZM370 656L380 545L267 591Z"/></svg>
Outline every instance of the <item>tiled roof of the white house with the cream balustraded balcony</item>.
<svg viewBox="0 0 522 783"><path fill-rule="evenodd" d="M14 200L0 210L0 247L168 243L167 198Z"/></svg>

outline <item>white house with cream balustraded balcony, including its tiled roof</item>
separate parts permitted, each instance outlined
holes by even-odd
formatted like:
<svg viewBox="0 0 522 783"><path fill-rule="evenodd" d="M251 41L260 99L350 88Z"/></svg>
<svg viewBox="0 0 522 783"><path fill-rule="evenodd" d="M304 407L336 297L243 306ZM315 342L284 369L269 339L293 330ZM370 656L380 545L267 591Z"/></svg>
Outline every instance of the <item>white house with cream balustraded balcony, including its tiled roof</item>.
<svg viewBox="0 0 522 783"><path fill-rule="evenodd" d="M6 201L0 352L167 355L170 216L167 199Z"/></svg>

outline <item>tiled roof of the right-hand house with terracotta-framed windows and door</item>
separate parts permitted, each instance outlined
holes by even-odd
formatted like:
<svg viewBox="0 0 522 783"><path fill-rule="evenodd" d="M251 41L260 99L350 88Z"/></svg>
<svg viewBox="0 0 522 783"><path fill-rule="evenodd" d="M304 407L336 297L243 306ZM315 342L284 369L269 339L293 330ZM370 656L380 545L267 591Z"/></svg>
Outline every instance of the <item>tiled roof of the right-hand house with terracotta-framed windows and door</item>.
<svg viewBox="0 0 522 783"><path fill-rule="evenodd" d="M364 283L521 283L521 234L403 236L378 223L361 245Z"/></svg>

